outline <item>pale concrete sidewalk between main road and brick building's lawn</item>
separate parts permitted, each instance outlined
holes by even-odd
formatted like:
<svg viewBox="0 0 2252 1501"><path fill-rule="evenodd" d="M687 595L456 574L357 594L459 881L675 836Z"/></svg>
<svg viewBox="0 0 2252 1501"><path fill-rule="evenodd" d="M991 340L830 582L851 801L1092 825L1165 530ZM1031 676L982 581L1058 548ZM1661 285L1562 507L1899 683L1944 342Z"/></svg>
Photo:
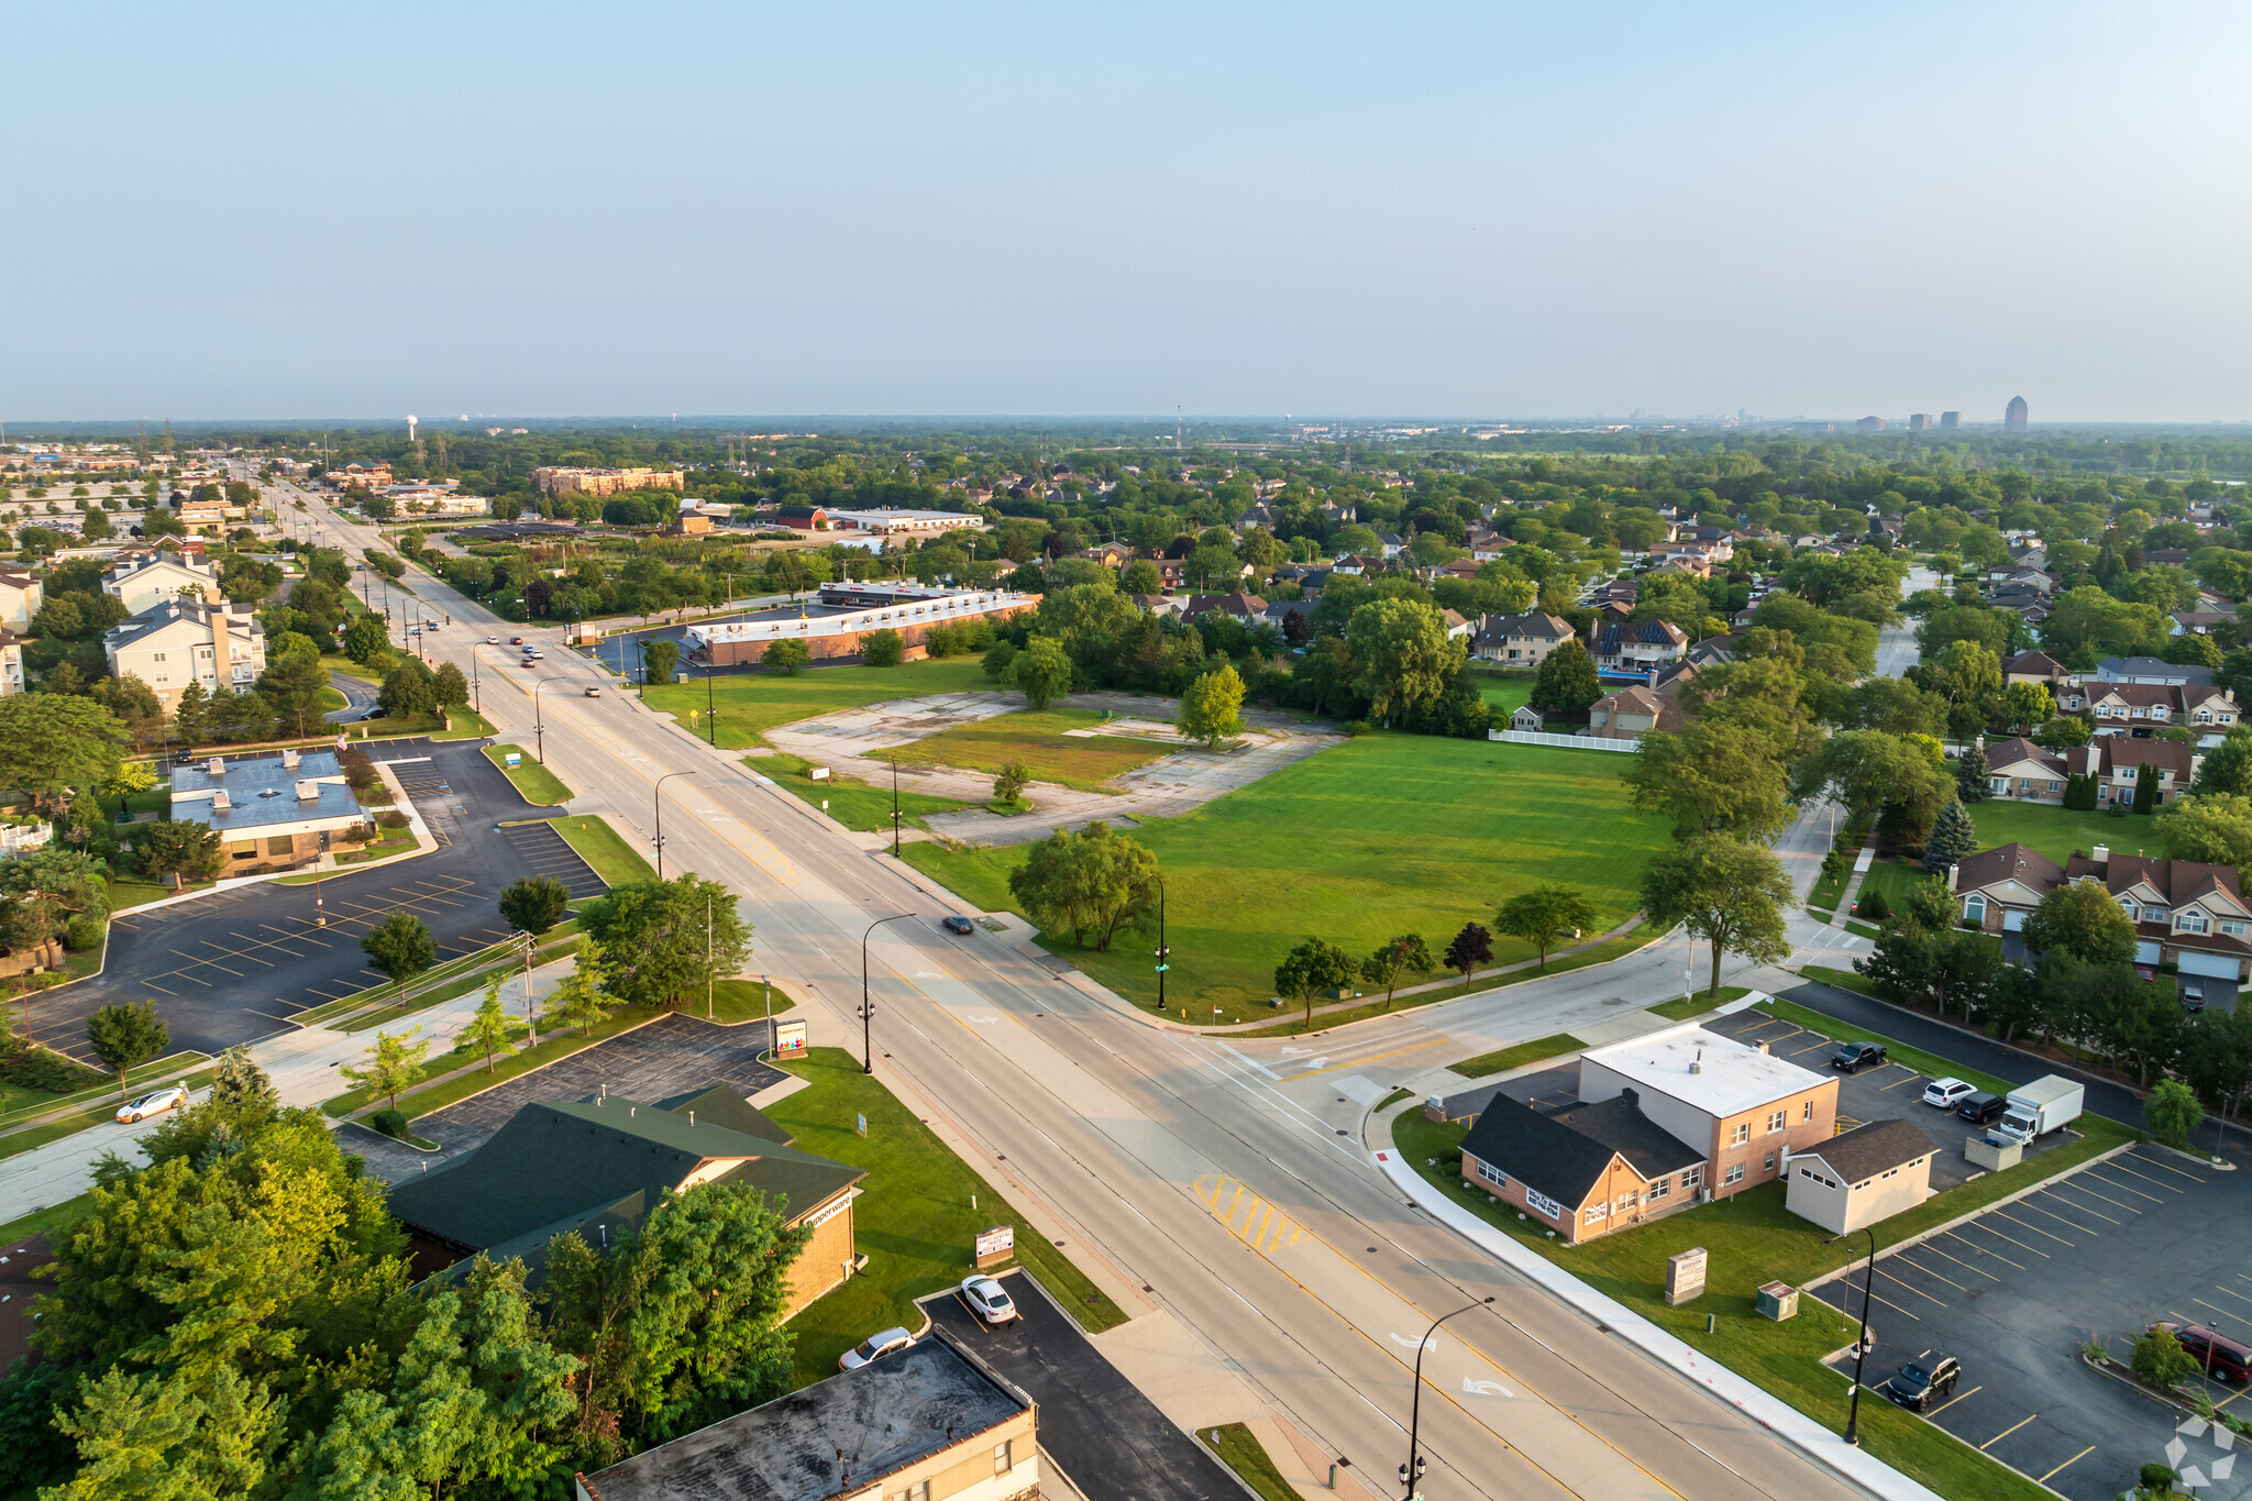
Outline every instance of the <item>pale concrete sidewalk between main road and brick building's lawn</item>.
<svg viewBox="0 0 2252 1501"><path fill-rule="evenodd" d="M1439 1224L1457 1231L1464 1240L1509 1265L1543 1292L1570 1303L1590 1319L1606 1323L1615 1334L1626 1337L1646 1355L1682 1373L1718 1400L1743 1411L1784 1442L1797 1447L1808 1458L1829 1465L1847 1481L1865 1487L1869 1494L1883 1496L1885 1501L1943 1501L1939 1492L1907 1478L1880 1458L1847 1445L1838 1438L1838 1433L1820 1427L1813 1418L1797 1411L1781 1397L1761 1391L1727 1366L1664 1332L1617 1298L1597 1292L1538 1251L1520 1247L1504 1231L1493 1229L1471 1211L1450 1202L1432 1188L1421 1172L1407 1166L1396 1148L1378 1148L1376 1168L1392 1179L1394 1188L1405 1193Z"/></svg>

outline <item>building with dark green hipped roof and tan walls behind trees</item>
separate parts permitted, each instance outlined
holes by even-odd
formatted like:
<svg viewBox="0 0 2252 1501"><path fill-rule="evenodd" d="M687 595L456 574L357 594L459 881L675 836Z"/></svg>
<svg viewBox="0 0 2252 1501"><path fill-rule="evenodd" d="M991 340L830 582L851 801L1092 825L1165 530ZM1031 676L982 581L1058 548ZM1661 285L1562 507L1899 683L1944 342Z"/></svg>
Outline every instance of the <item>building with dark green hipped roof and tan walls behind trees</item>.
<svg viewBox="0 0 2252 1501"><path fill-rule="evenodd" d="M786 1202L813 1238L790 1262L781 1316L851 1276L854 1199L863 1168L790 1145L790 1134L721 1085L660 1103L624 1096L520 1105L475 1152L392 1186L414 1269L432 1276L480 1253L525 1258L534 1278L547 1242L640 1226L667 1195L698 1184L757 1188Z"/></svg>

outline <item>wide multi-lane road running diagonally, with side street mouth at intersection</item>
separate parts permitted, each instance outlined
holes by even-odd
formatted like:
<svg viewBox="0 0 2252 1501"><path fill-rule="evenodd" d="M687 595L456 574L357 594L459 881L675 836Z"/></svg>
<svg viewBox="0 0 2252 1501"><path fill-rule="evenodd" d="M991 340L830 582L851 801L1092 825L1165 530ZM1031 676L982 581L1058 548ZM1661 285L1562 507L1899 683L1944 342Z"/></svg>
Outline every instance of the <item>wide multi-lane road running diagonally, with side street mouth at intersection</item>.
<svg viewBox="0 0 2252 1501"><path fill-rule="evenodd" d="M381 545L309 495L306 511L291 509L300 493L277 488L284 518L309 518L315 542ZM1491 1296L1428 1352L1426 1494L1862 1494L1412 1211L1360 1136L1374 1098L1466 1042L1599 1028L1678 995L1689 961L1678 938L1329 1037L1194 1035L991 932L944 932L937 918L959 902L928 878L631 698L586 698L615 677L561 650L556 632L500 623L421 574L412 585L428 612L453 617L423 639L430 655L477 664L484 713L507 738L529 745L543 727L572 810L604 812L646 848L662 806L667 871L741 893L757 968L806 997L815 1040L858 1044L863 938L876 918L917 914L865 938L878 1078L1137 1321L1171 1321L1133 1346L1212 1366L1212 1400L1266 1404L1349 1460L1349 1485L1396 1494L1419 1337L1432 1316ZM491 632L554 650L522 671L513 650L484 646ZM1820 817L1786 839L1793 864L1820 860ZM1257 1411L1205 1420L1223 1415Z"/></svg>

